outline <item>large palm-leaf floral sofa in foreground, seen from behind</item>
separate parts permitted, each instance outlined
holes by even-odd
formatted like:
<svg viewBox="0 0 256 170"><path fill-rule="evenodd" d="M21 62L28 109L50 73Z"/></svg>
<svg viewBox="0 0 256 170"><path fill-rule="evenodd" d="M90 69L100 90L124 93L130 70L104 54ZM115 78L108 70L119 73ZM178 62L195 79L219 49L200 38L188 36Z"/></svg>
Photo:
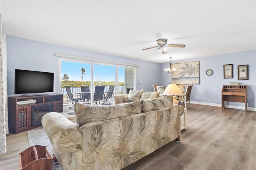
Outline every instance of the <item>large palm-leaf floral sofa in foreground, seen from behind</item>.
<svg viewBox="0 0 256 170"><path fill-rule="evenodd" d="M47 113L42 125L63 170L120 170L180 136L184 108L173 97L124 105L75 104L76 123Z"/></svg>

